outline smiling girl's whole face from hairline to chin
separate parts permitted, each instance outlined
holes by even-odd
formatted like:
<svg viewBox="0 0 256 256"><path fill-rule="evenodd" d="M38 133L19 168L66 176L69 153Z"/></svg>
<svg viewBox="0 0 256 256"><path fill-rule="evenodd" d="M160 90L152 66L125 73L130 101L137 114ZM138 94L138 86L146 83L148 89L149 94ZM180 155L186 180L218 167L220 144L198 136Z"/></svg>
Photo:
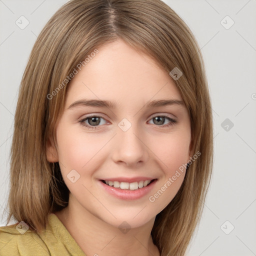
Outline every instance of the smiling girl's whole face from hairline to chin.
<svg viewBox="0 0 256 256"><path fill-rule="evenodd" d="M47 159L59 162L69 202L116 227L152 220L191 156L189 114L174 81L118 40L98 48L68 86Z"/></svg>

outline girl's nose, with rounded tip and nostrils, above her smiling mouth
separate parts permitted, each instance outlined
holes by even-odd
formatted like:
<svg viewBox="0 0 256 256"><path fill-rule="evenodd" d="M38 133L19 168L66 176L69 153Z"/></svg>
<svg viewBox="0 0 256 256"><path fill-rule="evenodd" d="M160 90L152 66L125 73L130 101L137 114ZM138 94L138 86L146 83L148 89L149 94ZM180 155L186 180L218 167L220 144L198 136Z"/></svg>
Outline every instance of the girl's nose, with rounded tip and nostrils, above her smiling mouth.
<svg viewBox="0 0 256 256"><path fill-rule="evenodd" d="M112 160L116 163L137 167L149 157L145 136L136 125L131 125L126 131L117 127L113 143Z"/></svg>

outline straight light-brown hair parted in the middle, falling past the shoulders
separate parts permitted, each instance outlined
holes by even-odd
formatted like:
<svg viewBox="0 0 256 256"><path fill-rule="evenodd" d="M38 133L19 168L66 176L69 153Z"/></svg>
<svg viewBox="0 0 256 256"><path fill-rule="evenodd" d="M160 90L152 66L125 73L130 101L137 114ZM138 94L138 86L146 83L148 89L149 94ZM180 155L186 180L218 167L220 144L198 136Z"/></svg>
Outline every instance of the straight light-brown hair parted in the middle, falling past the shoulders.
<svg viewBox="0 0 256 256"><path fill-rule="evenodd" d="M10 159L9 215L33 231L46 227L50 212L67 206L69 190L58 162L46 159L50 137L63 111L68 82L47 97L90 52L123 39L173 79L189 112L190 164L171 202L156 215L151 235L160 254L184 255L199 222L212 171L212 113L204 63L185 22L161 0L71 0L61 6L37 37L23 73L14 116Z"/></svg>

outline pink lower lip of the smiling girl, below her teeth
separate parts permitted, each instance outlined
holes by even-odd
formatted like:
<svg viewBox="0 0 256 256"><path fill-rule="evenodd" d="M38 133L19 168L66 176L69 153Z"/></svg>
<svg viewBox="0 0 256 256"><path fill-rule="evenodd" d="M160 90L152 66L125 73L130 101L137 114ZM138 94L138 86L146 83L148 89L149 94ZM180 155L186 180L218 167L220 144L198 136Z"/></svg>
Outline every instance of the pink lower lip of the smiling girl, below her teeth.
<svg viewBox="0 0 256 256"><path fill-rule="evenodd" d="M155 182L157 179L155 179L153 182L151 182L149 185L138 188L136 190L130 190L130 189L121 189L113 186L109 186L102 181L98 180L100 185L105 189L108 193L111 195L123 199L123 200L136 200L143 196L145 196L149 191L153 188Z"/></svg>

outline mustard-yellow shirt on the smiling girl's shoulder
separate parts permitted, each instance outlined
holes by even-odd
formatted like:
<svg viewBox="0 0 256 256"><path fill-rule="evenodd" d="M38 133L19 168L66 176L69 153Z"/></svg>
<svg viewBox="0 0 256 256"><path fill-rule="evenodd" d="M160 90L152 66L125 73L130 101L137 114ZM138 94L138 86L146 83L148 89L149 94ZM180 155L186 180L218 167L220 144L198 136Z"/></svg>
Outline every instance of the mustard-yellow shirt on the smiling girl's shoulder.
<svg viewBox="0 0 256 256"><path fill-rule="evenodd" d="M0 227L1 256L86 256L58 217L50 213L46 229L40 233L26 230L23 234L16 224ZM22 232L22 231L21 231Z"/></svg>

